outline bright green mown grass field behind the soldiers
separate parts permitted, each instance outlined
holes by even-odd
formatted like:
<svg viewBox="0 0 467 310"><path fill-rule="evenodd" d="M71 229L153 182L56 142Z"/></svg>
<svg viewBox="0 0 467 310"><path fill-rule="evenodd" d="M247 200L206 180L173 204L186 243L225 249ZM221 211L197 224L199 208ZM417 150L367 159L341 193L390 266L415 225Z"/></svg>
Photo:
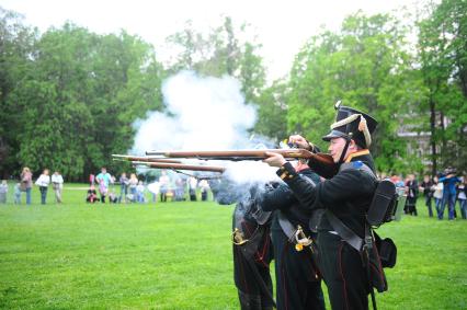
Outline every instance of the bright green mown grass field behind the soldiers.
<svg viewBox="0 0 467 310"><path fill-rule="evenodd" d="M1 309L239 309L231 206L83 198L68 186L42 206L34 188L32 206L0 205ZM379 229L399 253L378 307L467 309L467 221L419 211Z"/></svg>

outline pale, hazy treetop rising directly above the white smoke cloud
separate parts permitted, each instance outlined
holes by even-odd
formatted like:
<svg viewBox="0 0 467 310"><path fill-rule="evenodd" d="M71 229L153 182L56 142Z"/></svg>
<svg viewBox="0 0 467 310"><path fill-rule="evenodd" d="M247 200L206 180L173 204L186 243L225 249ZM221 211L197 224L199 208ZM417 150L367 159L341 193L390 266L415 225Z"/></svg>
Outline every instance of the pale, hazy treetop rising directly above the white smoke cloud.
<svg viewBox="0 0 467 310"><path fill-rule="evenodd" d="M229 16L223 25L206 35L195 31L189 21L185 28L167 38L174 49L181 51L169 65L169 71L194 70L202 76L239 79L247 102L255 102L265 87L265 69L259 56L260 45L240 41L246 26L237 31Z"/></svg>

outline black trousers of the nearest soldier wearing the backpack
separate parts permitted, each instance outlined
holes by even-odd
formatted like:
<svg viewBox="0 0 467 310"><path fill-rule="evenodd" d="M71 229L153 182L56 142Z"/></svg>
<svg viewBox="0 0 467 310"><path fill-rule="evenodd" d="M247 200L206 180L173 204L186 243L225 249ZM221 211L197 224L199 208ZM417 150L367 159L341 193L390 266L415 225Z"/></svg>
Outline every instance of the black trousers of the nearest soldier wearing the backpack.
<svg viewBox="0 0 467 310"><path fill-rule="evenodd" d="M332 309L368 309L368 279L358 251L330 232L318 232L318 249Z"/></svg>

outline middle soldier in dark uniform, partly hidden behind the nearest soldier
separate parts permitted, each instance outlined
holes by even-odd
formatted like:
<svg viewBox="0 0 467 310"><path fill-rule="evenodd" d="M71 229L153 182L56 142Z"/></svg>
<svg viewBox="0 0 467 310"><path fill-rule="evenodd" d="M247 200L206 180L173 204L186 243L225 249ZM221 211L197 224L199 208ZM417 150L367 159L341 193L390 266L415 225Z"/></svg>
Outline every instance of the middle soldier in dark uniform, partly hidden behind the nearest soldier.
<svg viewBox="0 0 467 310"><path fill-rule="evenodd" d="M299 161L295 169L310 182L320 182L306 162ZM284 183L264 193L260 202L263 210L274 211L271 232L277 309L326 309L321 276L311 259L312 251L317 252L312 244L316 236L308 228L312 211L299 208L299 202Z"/></svg>

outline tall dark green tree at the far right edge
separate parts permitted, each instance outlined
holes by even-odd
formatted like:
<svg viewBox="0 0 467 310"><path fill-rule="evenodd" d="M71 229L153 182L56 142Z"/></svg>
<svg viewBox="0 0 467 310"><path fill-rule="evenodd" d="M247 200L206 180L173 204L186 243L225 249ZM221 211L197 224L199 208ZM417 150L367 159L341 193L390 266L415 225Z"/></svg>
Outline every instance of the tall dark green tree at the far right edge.
<svg viewBox="0 0 467 310"><path fill-rule="evenodd" d="M419 57L435 174L438 159L442 167L467 169L467 1L444 0L428 10L419 23Z"/></svg>

